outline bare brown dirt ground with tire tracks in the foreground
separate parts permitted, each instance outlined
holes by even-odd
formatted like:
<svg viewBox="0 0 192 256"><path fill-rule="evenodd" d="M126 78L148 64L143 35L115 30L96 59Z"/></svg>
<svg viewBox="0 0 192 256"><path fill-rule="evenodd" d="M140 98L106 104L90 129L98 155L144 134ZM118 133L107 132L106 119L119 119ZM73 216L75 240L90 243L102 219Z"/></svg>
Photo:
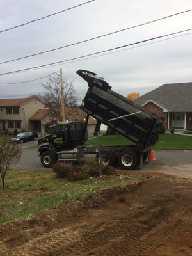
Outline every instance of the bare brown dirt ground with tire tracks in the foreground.
<svg viewBox="0 0 192 256"><path fill-rule="evenodd" d="M191 256L192 180L148 174L2 225L0 255Z"/></svg>

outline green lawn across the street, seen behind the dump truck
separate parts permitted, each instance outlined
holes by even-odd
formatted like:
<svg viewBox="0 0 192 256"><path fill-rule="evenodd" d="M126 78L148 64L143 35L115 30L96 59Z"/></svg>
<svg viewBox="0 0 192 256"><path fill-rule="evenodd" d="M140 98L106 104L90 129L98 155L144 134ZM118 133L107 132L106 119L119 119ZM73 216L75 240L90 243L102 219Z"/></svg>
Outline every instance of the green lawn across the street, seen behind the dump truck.
<svg viewBox="0 0 192 256"><path fill-rule="evenodd" d="M88 141L90 145L98 145L97 138ZM103 135L100 136L102 146L112 145L134 145L122 135ZM192 150L192 135L180 135L164 133L159 134L159 141L154 146L156 150Z"/></svg>

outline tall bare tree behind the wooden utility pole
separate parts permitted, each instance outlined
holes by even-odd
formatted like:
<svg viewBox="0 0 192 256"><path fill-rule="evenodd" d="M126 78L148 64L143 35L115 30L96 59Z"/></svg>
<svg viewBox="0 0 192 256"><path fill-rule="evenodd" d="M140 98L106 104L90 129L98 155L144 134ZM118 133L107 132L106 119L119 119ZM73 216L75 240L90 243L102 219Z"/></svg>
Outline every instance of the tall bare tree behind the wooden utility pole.
<svg viewBox="0 0 192 256"><path fill-rule="evenodd" d="M63 85L65 106L76 106L78 97L73 82L68 82L68 79L64 79ZM45 106L50 109L52 118L61 120L60 76L49 77L48 81L42 86L44 87L43 99Z"/></svg>

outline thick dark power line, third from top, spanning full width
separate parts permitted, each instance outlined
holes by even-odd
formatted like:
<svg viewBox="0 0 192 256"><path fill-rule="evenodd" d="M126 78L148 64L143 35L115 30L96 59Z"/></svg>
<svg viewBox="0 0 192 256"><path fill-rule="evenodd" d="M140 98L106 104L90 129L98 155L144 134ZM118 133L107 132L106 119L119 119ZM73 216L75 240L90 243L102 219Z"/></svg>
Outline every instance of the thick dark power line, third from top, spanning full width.
<svg viewBox="0 0 192 256"><path fill-rule="evenodd" d="M79 57L76 57L76 58L71 58L71 59L68 59L68 60L56 61L56 62L53 62L53 63L48 63L48 64L36 66L36 67L24 68L24 69L20 69L20 70L11 71L11 72L6 72L6 73L0 74L0 76L7 75L7 74L18 73L18 72L22 72L22 71L26 71L26 70L33 70L35 68L40 68L40 67L47 67L47 66L51 66L51 65L54 65L54 64L59 64L59 63L67 62L67 61L78 60L78 59L81 59L81 58L84 58L84 57L93 56L95 54L100 54L100 53L103 53L103 52L114 51L116 49L121 49L121 48L128 47L128 46L131 46L131 45L141 44L143 42L148 42L148 41L151 41L151 40L156 40L158 38L163 38L163 37L166 37L166 36L176 35L176 34L183 33L183 32L186 32L186 31L191 31L191 30L192 30L192 28L186 29L186 30L182 30L182 31L177 31L175 33L170 33L170 34L163 35L163 36L156 36L154 38L149 38L149 39L142 40L142 41L139 41L139 42L134 42L132 44L121 45L121 46L118 46L118 47L115 47L115 48L111 48L111 49L107 49L107 50L104 50L104 51L99 51L99 52L94 52L94 53L91 53L91 54L86 54L86 55L79 56Z"/></svg>

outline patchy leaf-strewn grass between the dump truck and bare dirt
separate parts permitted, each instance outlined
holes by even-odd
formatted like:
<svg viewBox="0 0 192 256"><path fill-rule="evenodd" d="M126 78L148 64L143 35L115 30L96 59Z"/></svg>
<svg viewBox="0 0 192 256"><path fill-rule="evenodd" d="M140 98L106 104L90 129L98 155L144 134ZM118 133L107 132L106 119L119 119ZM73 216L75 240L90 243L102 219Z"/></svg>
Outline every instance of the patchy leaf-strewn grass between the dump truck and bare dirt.
<svg viewBox="0 0 192 256"><path fill-rule="evenodd" d="M101 189L124 186L140 175L110 175L69 182L50 171L8 170L6 189L0 185L0 225L28 219L38 212Z"/></svg>

